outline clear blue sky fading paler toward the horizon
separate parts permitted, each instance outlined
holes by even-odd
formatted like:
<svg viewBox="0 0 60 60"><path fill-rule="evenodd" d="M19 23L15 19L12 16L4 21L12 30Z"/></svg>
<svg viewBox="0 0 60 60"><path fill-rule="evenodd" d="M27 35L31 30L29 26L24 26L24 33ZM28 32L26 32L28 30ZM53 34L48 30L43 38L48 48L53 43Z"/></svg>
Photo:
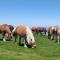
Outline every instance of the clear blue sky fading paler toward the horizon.
<svg viewBox="0 0 60 60"><path fill-rule="evenodd" d="M60 26L60 0L0 0L0 24Z"/></svg>

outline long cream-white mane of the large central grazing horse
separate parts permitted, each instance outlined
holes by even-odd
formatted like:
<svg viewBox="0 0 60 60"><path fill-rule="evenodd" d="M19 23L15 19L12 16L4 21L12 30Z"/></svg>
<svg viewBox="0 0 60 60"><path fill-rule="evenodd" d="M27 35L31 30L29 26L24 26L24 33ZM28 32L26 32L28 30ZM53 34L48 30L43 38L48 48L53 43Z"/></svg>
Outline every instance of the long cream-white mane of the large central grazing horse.
<svg viewBox="0 0 60 60"><path fill-rule="evenodd" d="M32 30L28 26L26 26L26 35L27 35L28 44L35 42ZM31 41L31 39L32 39L32 41Z"/></svg>

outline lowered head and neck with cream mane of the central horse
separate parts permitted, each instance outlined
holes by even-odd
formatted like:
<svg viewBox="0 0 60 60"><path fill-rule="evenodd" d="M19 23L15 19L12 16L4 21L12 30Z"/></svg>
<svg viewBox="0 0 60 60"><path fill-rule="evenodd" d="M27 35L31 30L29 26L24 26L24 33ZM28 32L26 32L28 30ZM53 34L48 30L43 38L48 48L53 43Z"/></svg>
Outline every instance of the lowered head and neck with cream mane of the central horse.
<svg viewBox="0 0 60 60"><path fill-rule="evenodd" d="M36 43L33 33L29 27L26 27L26 41L28 46L31 46L32 48L36 48Z"/></svg>

